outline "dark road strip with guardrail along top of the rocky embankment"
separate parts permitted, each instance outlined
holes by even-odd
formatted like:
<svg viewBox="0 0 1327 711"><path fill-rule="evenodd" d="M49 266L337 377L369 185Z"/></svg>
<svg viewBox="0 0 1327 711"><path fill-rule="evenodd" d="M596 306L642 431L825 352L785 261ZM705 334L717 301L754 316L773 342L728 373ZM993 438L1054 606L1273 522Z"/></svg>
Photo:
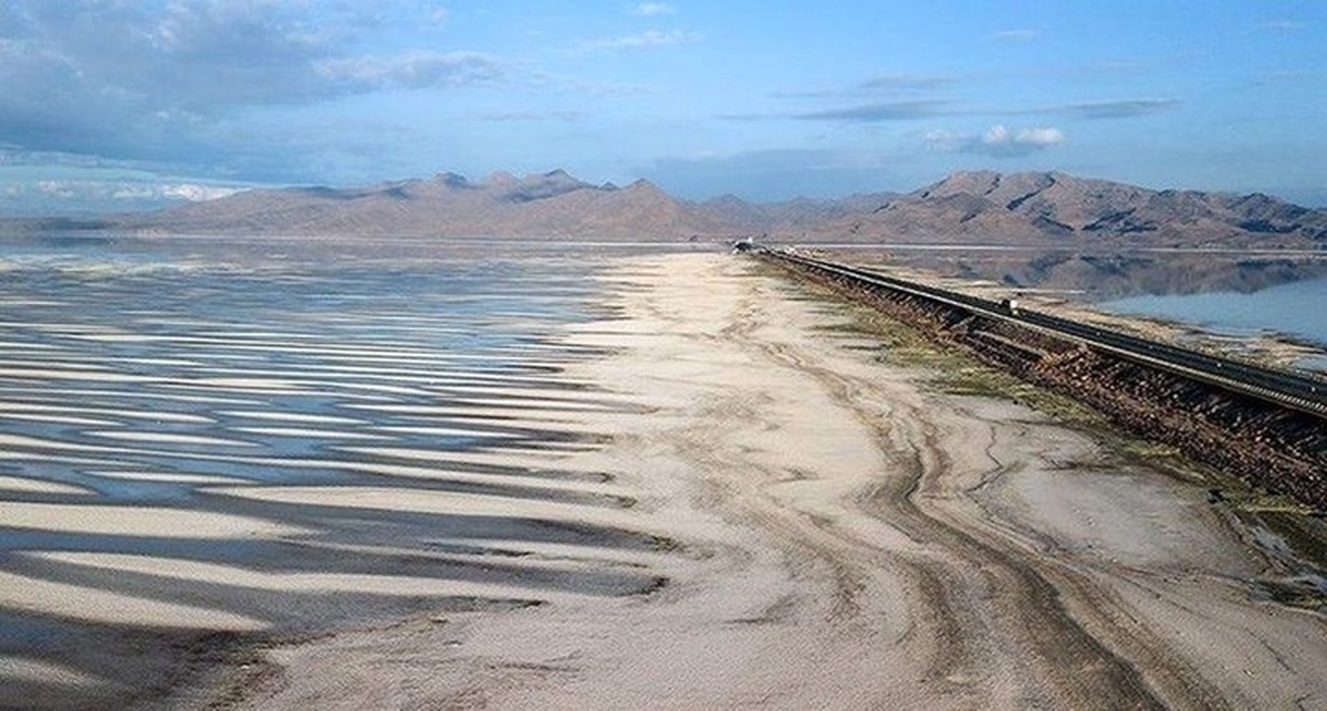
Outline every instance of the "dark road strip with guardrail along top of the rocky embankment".
<svg viewBox="0 0 1327 711"><path fill-rule="evenodd" d="M1010 304L989 298L918 284L847 264L812 259L786 249L752 245L743 251L835 276L861 287L904 293L983 318L1014 322L1131 362L1327 419L1327 379L1221 358L1026 308L1013 308Z"/></svg>

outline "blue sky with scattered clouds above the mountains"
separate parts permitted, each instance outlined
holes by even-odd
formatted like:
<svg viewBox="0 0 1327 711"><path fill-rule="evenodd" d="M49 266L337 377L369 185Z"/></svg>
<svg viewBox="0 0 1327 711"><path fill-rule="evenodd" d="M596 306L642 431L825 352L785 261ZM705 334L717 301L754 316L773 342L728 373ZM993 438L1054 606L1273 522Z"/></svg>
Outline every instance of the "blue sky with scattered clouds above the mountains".
<svg viewBox="0 0 1327 711"><path fill-rule="evenodd" d="M555 168L1327 206L1327 1L0 0L0 216Z"/></svg>

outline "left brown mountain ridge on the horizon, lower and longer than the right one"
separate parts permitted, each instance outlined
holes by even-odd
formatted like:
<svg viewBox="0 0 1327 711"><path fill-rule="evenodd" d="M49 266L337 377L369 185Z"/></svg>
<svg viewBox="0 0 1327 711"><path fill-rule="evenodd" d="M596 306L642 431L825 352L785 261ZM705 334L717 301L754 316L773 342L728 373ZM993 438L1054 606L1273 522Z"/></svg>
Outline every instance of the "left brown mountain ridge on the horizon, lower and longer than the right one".
<svg viewBox="0 0 1327 711"><path fill-rule="evenodd" d="M679 200L648 180L593 186L561 170L474 183L456 174L366 188L251 190L206 203L97 220L146 233L678 240L816 232L892 198L747 203ZM69 227L62 224L61 227Z"/></svg>

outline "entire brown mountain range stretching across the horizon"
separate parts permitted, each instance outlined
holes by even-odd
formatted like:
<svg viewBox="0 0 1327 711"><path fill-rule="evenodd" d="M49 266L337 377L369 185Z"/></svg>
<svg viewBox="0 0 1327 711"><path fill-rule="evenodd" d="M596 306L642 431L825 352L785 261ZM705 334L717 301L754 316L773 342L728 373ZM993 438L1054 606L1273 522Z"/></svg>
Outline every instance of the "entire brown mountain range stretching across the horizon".
<svg viewBox="0 0 1327 711"><path fill-rule="evenodd" d="M565 171L482 182L453 172L361 188L249 190L96 220L11 228L151 235L1093 244L1327 249L1327 210L1251 194L1143 187L1063 172L955 172L908 194L751 203L683 200L637 180L591 184Z"/></svg>

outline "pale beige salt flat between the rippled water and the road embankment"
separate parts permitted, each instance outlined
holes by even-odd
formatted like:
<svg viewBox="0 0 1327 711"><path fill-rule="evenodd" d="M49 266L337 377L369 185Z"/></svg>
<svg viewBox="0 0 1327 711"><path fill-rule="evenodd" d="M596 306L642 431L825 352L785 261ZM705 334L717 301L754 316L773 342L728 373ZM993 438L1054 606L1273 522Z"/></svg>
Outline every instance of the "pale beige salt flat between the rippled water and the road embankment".
<svg viewBox="0 0 1327 711"><path fill-rule="evenodd" d="M502 471L551 468L591 483L605 475L585 493L630 505L575 507L547 492L547 503L531 496L511 509L472 501L484 516L589 527L598 539L525 536L508 548L498 528L438 533L449 544L482 541L480 562L518 566L498 581L507 588L467 594L528 604L273 637L251 645L244 666L166 703L1327 706L1324 617L1265 594L1269 580L1312 570L1210 504L1200 484L1019 405L937 393L925 373L880 362L876 341L837 328L841 306L747 260L632 257L601 279L618 317L572 326L571 338L606 356L568 365L567 377L593 383L581 395L589 402L612 406L536 410L522 424L594 432L600 446L499 454ZM430 476L419 452L394 456L397 474ZM446 468L496 466L460 456ZM458 516L466 503L406 488L364 493L218 492L259 511L334 504ZM616 540L608 532L658 545L605 545ZM150 572L143 561L98 562ZM522 584L568 568L580 574L559 578L564 585ZM596 584L594 570L614 574ZM256 589L285 584L249 580Z"/></svg>

